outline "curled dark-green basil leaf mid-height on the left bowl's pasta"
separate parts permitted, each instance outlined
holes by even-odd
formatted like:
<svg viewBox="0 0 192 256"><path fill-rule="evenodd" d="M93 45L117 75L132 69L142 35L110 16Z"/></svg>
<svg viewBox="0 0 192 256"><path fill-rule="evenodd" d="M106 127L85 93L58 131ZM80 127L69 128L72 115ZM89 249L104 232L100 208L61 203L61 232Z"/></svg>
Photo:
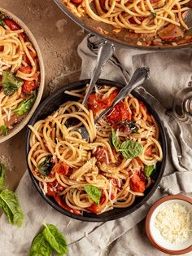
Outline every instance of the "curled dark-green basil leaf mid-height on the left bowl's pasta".
<svg viewBox="0 0 192 256"><path fill-rule="evenodd" d="M2 72L2 89L5 95L13 94L23 83L23 80L15 77L11 71Z"/></svg>

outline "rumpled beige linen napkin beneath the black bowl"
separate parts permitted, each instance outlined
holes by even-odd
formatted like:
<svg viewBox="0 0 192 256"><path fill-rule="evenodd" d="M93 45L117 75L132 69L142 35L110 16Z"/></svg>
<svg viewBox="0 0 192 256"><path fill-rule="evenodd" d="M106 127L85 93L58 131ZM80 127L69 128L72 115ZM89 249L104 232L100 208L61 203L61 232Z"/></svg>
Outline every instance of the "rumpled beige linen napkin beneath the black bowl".
<svg viewBox="0 0 192 256"><path fill-rule="evenodd" d="M97 38L89 38L89 44L87 39L84 39L78 49L82 58L81 78L90 77L96 60L95 44L91 42ZM192 55L190 50L142 52L117 47L115 55L105 66L102 77L124 82L124 79L129 79L133 69L139 66L151 68L151 80L146 83L145 89L140 87L137 91L159 113L168 139L168 161L164 178L154 195L129 216L107 223L85 223L59 214L47 205L26 172L16 190L24 209L24 225L21 228L13 227L2 216L0 255L27 255L33 237L39 232L43 222L55 224L65 234L69 255L164 255L151 246L146 238L143 222L140 222L151 205L162 196L192 192L192 126L179 123L172 116L166 115L166 111L172 107L172 99L177 90L188 86L190 82Z"/></svg>

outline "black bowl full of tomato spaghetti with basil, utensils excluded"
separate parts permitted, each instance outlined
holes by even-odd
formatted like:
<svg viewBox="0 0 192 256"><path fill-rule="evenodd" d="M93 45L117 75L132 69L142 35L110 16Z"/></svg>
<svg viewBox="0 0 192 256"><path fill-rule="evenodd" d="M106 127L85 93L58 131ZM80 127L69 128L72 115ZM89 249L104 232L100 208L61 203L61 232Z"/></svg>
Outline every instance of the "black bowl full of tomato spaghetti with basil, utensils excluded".
<svg viewBox="0 0 192 256"><path fill-rule="evenodd" d="M81 100L88 83L64 86L37 108L27 131L28 171L55 210L107 221L137 210L155 192L167 143L157 113L135 91L95 125L94 117L123 85L98 80L85 108ZM78 130L82 125L89 141Z"/></svg>

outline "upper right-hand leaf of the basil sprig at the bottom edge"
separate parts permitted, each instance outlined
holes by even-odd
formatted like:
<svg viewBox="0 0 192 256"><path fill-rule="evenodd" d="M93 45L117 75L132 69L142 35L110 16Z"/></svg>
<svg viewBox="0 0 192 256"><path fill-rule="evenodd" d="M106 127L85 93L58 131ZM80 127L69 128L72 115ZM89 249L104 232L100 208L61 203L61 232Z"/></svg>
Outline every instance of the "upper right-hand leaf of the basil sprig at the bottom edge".
<svg viewBox="0 0 192 256"><path fill-rule="evenodd" d="M52 224L45 226L43 236L46 238L51 248L54 249L57 254L68 254L68 245L63 234Z"/></svg>

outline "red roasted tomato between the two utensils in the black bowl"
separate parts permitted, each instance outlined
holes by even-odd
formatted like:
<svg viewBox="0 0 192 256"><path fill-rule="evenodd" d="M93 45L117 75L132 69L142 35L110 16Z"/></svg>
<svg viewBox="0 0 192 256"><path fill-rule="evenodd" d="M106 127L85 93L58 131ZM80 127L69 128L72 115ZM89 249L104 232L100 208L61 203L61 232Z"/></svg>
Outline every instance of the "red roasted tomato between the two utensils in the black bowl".
<svg viewBox="0 0 192 256"><path fill-rule="evenodd" d="M111 106L111 103L116 98L117 94L118 90L114 90L107 99L102 99L100 95L92 93L89 95L89 99L87 101L88 108L90 108L94 113L98 113L98 111Z"/></svg>

